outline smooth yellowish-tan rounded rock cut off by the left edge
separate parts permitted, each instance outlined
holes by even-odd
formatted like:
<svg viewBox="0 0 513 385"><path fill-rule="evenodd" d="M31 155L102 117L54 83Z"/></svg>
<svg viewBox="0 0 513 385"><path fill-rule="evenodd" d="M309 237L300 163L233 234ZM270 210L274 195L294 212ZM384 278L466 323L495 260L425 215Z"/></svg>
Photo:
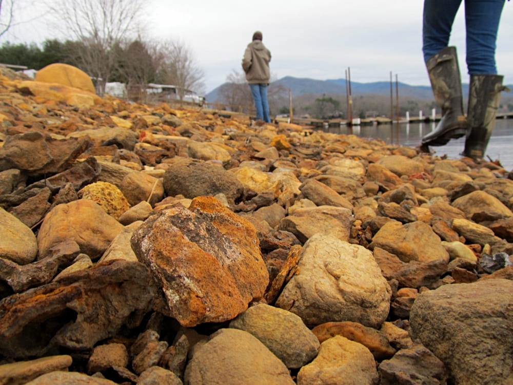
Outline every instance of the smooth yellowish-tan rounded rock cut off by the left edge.
<svg viewBox="0 0 513 385"><path fill-rule="evenodd" d="M0 258L20 265L37 255L37 240L32 230L0 207Z"/></svg>

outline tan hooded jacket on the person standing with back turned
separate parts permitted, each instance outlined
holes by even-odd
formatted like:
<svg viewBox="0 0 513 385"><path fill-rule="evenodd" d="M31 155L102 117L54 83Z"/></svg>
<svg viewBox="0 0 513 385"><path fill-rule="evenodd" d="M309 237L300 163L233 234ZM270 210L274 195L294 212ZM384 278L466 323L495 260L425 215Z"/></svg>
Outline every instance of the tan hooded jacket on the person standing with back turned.
<svg viewBox="0 0 513 385"><path fill-rule="evenodd" d="M246 72L246 79L249 84L269 84L270 71L269 62L271 52L265 48L261 40L253 40L248 44L242 59L242 69Z"/></svg>

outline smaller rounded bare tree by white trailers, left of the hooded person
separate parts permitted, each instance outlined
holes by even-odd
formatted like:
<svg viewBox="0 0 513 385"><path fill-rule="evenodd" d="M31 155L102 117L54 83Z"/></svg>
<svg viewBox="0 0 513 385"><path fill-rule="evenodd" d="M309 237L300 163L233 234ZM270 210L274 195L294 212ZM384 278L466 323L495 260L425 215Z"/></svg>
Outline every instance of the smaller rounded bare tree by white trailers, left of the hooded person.
<svg viewBox="0 0 513 385"><path fill-rule="evenodd" d="M168 41L160 49L163 65L160 76L165 84L177 87L178 97L184 98L188 90L204 91L205 73L198 67L192 50L182 41Z"/></svg>

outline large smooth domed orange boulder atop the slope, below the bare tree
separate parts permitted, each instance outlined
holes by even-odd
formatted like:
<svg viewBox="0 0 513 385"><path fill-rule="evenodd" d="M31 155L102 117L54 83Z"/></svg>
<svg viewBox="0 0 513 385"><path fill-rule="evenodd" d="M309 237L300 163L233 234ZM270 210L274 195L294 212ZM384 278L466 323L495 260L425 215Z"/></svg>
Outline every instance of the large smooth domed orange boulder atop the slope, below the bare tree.
<svg viewBox="0 0 513 385"><path fill-rule="evenodd" d="M53 63L35 74L35 81L58 83L95 93L94 85L87 73L69 64Z"/></svg>

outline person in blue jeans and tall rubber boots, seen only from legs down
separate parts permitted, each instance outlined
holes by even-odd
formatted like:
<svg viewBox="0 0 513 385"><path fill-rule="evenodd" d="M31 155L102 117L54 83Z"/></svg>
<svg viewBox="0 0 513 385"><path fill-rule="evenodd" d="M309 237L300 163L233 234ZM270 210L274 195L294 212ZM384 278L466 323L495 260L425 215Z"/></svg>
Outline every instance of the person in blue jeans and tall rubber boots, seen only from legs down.
<svg viewBox="0 0 513 385"><path fill-rule="evenodd" d="M456 47L449 47L452 24L462 0L424 0L422 51L435 101L442 109L436 129L422 138L443 146L466 136L463 155L482 159L495 127L503 76L497 74L495 49L504 0L464 0L466 62L470 75L467 116L463 111Z"/></svg>

